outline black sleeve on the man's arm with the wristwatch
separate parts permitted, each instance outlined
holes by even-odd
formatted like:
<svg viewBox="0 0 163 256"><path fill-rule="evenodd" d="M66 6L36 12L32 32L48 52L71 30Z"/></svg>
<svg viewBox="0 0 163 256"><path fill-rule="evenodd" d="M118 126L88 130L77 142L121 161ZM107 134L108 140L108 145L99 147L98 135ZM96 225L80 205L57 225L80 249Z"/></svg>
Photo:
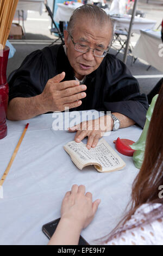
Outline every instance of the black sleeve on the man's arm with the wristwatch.
<svg viewBox="0 0 163 256"><path fill-rule="evenodd" d="M145 94L140 94L136 78L131 76L121 60L115 58L108 62L106 74L110 86L105 93L105 107L108 111L126 115L143 127L146 121L148 101Z"/></svg>

